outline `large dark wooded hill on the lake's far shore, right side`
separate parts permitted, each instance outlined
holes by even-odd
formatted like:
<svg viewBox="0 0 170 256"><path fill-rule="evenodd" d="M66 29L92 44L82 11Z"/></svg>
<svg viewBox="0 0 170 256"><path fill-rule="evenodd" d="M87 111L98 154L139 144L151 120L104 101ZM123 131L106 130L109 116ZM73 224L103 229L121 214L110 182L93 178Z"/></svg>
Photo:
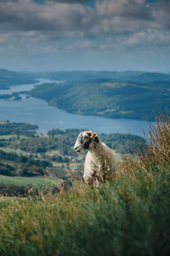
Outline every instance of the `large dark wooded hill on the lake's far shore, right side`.
<svg viewBox="0 0 170 256"><path fill-rule="evenodd" d="M108 118L154 120L170 110L170 80L156 82L97 79L80 83L42 84L31 96L70 113Z"/></svg>

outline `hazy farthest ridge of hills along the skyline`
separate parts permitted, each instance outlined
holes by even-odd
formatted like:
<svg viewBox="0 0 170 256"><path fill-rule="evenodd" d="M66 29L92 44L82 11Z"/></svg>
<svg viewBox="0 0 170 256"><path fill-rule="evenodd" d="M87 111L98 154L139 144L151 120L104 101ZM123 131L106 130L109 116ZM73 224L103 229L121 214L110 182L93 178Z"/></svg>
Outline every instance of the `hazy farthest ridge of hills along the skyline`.
<svg viewBox="0 0 170 256"><path fill-rule="evenodd" d="M36 78L62 80L66 82L85 82L96 79L114 79L115 81L155 82L170 81L170 74L147 73L143 71L56 71L24 73L0 68L0 89L14 84L34 83Z"/></svg>

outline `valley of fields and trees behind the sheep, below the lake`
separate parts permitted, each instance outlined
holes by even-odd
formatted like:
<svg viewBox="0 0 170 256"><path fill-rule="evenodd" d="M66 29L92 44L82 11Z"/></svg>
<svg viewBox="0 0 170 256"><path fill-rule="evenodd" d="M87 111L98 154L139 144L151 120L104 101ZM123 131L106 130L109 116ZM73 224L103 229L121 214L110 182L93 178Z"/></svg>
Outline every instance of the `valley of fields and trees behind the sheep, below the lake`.
<svg viewBox="0 0 170 256"><path fill-rule="evenodd" d="M59 183L82 180L85 154L76 154L74 143L82 130L35 131L36 125L0 123L0 187L10 194L11 187L23 195L26 188L53 189ZM100 134L116 161L138 151L144 138L123 134Z"/></svg>

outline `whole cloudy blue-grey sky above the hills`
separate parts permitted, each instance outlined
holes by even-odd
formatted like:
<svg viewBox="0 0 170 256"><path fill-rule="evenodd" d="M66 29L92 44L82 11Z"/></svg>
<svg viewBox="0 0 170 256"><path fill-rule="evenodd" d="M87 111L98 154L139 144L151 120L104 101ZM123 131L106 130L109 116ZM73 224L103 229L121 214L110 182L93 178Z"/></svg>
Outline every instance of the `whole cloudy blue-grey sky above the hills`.
<svg viewBox="0 0 170 256"><path fill-rule="evenodd" d="M170 73L170 0L0 0L0 68Z"/></svg>

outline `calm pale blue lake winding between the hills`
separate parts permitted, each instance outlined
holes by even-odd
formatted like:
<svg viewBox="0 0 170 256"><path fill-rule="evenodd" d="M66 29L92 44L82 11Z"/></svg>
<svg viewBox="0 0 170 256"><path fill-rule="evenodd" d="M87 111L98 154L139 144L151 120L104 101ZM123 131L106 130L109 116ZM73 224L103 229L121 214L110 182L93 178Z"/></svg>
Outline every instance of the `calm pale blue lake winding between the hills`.
<svg viewBox="0 0 170 256"><path fill-rule="evenodd" d="M10 90L0 90L0 94L28 91L39 84L54 82L48 79L38 79L38 81L37 84L23 84L12 86ZM83 128L99 133L118 132L143 136L143 131L148 133L149 130L148 123L141 120L106 119L99 116L66 113L65 110L49 106L43 100L26 98L26 95L21 96L21 101L0 100L0 120L38 125L38 131L42 133L57 128L64 131L72 128Z"/></svg>

